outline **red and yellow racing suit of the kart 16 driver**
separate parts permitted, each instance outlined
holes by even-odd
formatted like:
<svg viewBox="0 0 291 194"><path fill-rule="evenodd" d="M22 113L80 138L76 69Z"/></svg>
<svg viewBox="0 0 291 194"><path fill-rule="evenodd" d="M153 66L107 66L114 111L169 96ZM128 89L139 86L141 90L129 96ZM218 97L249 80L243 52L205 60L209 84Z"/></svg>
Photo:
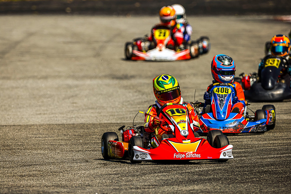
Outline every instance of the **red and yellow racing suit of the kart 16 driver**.
<svg viewBox="0 0 291 194"><path fill-rule="evenodd" d="M191 115L191 118L193 120L194 131L195 131L195 128L196 128L196 131L197 131L199 129L199 127L200 127L200 124L199 124L198 115L196 114L194 108L187 102L183 103L183 99L182 98L181 98L180 104L183 104L188 108L189 113ZM148 109L145 111L145 123L144 123L143 126L144 126L146 132L152 133L155 130L155 127L151 125L151 122L152 122L153 118L155 116L157 116L157 108L160 108L161 106L162 105L160 105L156 101L156 104L150 105L148 107ZM162 130L160 128L158 129L158 134L159 135L167 134L167 133L168 133L167 131L164 131L164 130Z"/></svg>

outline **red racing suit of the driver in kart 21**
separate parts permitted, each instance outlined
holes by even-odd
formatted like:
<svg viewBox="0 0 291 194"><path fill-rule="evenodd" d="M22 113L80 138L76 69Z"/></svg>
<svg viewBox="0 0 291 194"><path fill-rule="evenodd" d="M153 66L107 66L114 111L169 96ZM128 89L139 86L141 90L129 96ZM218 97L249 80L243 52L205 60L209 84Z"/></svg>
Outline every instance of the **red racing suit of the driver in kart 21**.
<svg viewBox="0 0 291 194"><path fill-rule="evenodd" d="M148 37L149 41L153 41L153 32L155 29L159 26L166 26L163 23L156 24L150 33L150 36ZM167 26L168 27L168 26ZM180 46L184 41L184 35L183 32L185 31L185 26L180 24L175 24L175 26L171 27L171 40L169 40L168 45L175 45Z"/></svg>

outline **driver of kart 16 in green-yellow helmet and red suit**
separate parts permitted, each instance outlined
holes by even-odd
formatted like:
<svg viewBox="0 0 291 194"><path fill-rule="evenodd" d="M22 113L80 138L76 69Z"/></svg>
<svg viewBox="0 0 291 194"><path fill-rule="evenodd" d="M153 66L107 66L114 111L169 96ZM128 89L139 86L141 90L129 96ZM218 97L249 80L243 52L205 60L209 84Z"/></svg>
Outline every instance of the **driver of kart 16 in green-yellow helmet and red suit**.
<svg viewBox="0 0 291 194"><path fill-rule="evenodd" d="M182 104L186 106L193 120L194 131L199 129L198 115L194 108L187 102L183 102L178 81L169 74L162 74L152 80L155 104L152 104L145 111L145 131L152 133L158 129L158 134L172 134L172 130L167 126L164 120L157 117L157 111L166 103Z"/></svg>

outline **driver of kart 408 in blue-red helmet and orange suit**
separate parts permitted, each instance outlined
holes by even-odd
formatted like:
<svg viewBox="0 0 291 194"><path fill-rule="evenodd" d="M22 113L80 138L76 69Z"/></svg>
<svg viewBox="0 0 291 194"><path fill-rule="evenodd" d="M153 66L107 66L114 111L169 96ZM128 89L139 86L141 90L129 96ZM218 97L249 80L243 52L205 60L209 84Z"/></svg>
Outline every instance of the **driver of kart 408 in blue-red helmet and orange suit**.
<svg viewBox="0 0 291 194"><path fill-rule="evenodd" d="M235 76L235 62L230 56L215 55L211 62L211 74L213 77L212 84L208 86L207 91L204 93L205 105L210 104L209 91L215 83L229 83L234 86L237 95L233 97L232 113L243 114L244 107L246 106L244 91L242 86L234 81Z"/></svg>

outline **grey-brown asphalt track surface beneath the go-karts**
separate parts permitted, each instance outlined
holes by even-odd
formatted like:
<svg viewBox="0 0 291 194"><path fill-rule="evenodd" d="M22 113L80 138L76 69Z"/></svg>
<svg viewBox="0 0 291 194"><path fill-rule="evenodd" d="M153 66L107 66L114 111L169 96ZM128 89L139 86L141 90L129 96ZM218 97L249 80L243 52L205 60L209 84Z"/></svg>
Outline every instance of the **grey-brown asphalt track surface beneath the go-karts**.
<svg viewBox="0 0 291 194"><path fill-rule="evenodd" d="M124 60L126 41L158 17L0 17L0 193L290 193L291 101L276 106L275 129L229 136L226 163L102 158L101 136L129 126L155 101L152 79L172 74L186 102L202 100L215 54L240 72L257 70L263 47L290 24L269 17L189 17L192 39L210 53L179 62ZM266 103L251 103L260 109ZM143 123L143 115L136 117Z"/></svg>

